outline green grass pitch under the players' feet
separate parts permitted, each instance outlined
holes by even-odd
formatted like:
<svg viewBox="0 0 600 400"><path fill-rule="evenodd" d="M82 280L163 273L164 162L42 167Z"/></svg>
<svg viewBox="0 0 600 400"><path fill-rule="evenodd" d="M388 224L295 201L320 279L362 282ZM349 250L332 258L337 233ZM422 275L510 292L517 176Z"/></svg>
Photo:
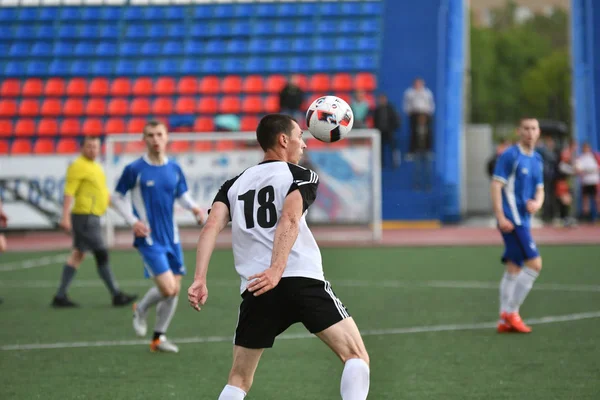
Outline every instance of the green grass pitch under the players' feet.
<svg viewBox="0 0 600 400"><path fill-rule="evenodd" d="M477 324L497 318L499 247L323 249L327 279L359 328L369 332L369 399L599 398L600 314L577 316L600 311L600 247L541 251L544 269L521 309L523 318L577 320L551 319L533 325L531 335L498 335ZM186 253L189 273L168 332L179 354L150 353L147 343L114 344L136 340L131 312L110 306L91 258L70 290L82 305L76 310L49 307L61 263L2 268L43 255L0 258L1 399L217 399L231 363L240 301L231 251L213 256L201 313L186 301L194 262L194 253ZM121 287L142 295L150 282L142 279L137 254L115 251L111 257ZM149 328L152 323L153 317ZM286 333L299 337L282 338L265 352L248 400L340 398L342 364L304 332L301 325L292 327ZM33 343L82 347L8 347Z"/></svg>

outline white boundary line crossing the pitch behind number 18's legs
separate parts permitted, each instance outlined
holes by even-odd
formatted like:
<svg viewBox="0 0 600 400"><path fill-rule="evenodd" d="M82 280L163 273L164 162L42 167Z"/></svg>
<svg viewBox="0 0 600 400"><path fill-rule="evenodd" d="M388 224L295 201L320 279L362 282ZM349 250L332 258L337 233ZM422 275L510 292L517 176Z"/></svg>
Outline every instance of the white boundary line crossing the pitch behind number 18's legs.
<svg viewBox="0 0 600 400"><path fill-rule="evenodd" d="M584 319L600 318L600 311L547 316L541 318L532 318L527 321L531 325L552 324L557 322L580 321ZM431 325L431 326L413 326L407 328L395 329L374 329L365 330L361 334L363 336L388 336L388 335L404 335L410 333L427 333L427 332L455 332L468 331L479 329L492 329L496 326L496 322L481 322L474 324L455 324L455 325ZM311 339L314 335L309 333L299 334L283 334L277 340L294 340L294 339ZM184 343L223 343L232 342L231 336L205 336L205 337L188 337L174 339L178 344ZM92 348L92 347L115 347L115 346L137 346L147 345L147 340L107 340L96 342L63 342L63 343L30 343L30 344L10 344L0 346L0 351L24 351L24 350L47 350L47 349L68 349L68 348Z"/></svg>

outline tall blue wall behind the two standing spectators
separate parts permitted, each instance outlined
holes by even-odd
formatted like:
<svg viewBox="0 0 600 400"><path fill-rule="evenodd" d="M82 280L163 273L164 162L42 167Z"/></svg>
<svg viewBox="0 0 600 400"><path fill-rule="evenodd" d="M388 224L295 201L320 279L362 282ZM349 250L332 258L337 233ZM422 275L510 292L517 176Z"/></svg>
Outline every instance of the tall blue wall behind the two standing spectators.
<svg viewBox="0 0 600 400"><path fill-rule="evenodd" d="M464 9L461 0L387 0L379 88L401 111L406 88L425 79L436 100L435 162L429 192L413 190L414 164L383 170L384 219L460 218L460 151L464 75ZM450 101L448 101L450 100ZM409 146L408 118L397 133L402 153Z"/></svg>

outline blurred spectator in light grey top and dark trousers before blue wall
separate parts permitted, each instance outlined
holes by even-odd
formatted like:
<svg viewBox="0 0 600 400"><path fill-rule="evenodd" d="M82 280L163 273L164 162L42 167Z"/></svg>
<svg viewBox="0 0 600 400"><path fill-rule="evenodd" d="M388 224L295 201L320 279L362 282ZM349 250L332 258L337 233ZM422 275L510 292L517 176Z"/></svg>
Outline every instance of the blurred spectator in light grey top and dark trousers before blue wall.
<svg viewBox="0 0 600 400"><path fill-rule="evenodd" d="M425 81L421 78L415 79L413 87L404 92L404 112L408 115L410 121L410 153L414 153L418 143L417 127L420 120L419 116L424 116L428 125L428 132L432 132L433 113L435 112L435 102L433 93L425 87ZM422 117L421 117L422 118ZM431 141L429 141L431 145Z"/></svg>

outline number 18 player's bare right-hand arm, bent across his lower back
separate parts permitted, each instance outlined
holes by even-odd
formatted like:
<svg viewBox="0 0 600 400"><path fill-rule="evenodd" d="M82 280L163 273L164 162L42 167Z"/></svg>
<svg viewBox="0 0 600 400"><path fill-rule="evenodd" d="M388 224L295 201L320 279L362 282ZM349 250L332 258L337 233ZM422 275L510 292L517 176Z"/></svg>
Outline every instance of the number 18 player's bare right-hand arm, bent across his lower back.
<svg viewBox="0 0 600 400"><path fill-rule="evenodd" d="M298 237L302 212L302 195L300 191L295 190L286 197L281 218L275 228L271 266L248 279L250 281L248 291L254 292L254 296L268 292L281 280L288 257Z"/></svg>

